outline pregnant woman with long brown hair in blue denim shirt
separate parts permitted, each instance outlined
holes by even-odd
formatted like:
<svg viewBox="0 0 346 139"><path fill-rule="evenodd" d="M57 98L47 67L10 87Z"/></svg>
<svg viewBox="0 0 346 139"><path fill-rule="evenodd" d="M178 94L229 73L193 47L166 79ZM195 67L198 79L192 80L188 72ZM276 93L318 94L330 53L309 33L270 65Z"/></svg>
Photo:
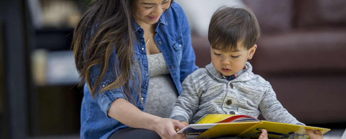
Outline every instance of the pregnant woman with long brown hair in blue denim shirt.
<svg viewBox="0 0 346 139"><path fill-rule="evenodd" d="M96 0L75 27L73 50L84 85L81 138L185 138L168 117L198 67L179 4Z"/></svg>

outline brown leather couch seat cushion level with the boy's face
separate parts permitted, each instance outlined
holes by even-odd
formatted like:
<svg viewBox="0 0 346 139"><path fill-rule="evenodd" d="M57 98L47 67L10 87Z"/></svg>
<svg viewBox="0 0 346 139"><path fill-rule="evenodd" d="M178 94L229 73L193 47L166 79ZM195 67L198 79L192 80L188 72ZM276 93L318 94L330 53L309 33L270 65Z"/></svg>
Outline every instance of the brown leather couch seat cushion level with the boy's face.
<svg viewBox="0 0 346 139"><path fill-rule="evenodd" d="M345 71L346 30L292 31L265 35L252 59L260 73Z"/></svg>

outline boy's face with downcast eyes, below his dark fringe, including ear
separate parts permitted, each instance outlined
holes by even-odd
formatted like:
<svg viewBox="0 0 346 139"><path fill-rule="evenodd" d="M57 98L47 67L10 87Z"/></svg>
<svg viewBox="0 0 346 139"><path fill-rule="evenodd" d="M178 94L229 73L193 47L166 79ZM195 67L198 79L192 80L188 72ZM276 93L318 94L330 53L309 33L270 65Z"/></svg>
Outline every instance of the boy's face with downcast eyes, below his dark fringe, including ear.
<svg viewBox="0 0 346 139"><path fill-rule="evenodd" d="M211 62L222 75L231 76L243 70L246 61L252 59L256 48L256 44L249 50L246 50L242 45L238 45L238 51L222 52L210 47Z"/></svg>

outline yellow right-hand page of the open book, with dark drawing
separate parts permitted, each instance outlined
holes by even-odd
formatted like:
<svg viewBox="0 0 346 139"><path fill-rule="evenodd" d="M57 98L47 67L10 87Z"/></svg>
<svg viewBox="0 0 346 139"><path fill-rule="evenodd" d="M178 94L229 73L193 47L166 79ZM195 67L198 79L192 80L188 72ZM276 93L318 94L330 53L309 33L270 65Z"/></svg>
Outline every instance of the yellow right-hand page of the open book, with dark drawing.
<svg viewBox="0 0 346 139"><path fill-rule="evenodd" d="M301 139L308 138L305 129L320 130L322 134L328 132L330 129L292 125L281 122L273 121L261 121L261 124L248 130L247 132L239 135L240 137L246 138L258 138L261 135L261 130L266 129L268 132L268 138L290 138L290 139Z"/></svg>

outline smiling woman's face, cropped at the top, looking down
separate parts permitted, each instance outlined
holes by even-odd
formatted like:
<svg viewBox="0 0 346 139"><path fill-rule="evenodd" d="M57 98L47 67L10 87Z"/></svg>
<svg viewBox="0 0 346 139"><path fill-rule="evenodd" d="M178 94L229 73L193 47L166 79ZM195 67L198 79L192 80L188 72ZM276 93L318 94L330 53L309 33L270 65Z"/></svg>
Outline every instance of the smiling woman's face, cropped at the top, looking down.
<svg viewBox="0 0 346 139"><path fill-rule="evenodd" d="M139 25L154 24L170 5L171 0L138 0L133 16Z"/></svg>

